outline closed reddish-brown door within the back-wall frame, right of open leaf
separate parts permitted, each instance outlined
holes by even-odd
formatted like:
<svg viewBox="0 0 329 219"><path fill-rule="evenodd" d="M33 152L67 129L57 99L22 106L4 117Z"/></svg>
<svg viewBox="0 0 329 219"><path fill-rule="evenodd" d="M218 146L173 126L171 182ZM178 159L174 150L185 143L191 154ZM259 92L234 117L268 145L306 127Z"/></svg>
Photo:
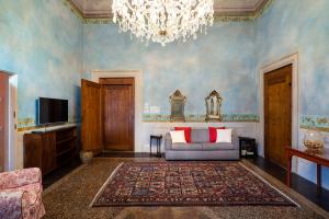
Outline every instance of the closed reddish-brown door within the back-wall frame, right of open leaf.
<svg viewBox="0 0 329 219"><path fill-rule="evenodd" d="M100 79L104 150L134 151L134 78Z"/></svg>

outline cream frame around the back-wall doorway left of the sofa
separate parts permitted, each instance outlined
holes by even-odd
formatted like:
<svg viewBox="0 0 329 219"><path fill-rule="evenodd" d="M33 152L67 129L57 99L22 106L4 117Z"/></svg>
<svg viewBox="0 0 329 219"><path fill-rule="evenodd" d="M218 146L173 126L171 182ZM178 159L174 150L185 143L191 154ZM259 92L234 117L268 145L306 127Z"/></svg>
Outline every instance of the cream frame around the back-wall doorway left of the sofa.
<svg viewBox="0 0 329 219"><path fill-rule="evenodd" d="M99 83L100 78L135 79L135 123L134 151L143 151L143 73L141 70L93 70L91 81Z"/></svg>

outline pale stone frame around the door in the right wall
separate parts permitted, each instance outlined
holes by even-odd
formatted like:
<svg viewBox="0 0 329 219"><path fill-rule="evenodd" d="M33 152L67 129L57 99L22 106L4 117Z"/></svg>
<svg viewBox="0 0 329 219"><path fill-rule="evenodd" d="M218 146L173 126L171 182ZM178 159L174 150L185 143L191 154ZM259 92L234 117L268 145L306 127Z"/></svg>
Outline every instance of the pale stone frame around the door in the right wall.
<svg viewBox="0 0 329 219"><path fill-rule="evenodd" d="M299 76L298 76L298 53L285 56L276 61L264 65L259 71L259 112L260 112L260 130L259 130L259 154L264 157L264 74L282 67L292 65L292 147L298 148L298 120L299 120Z"/></svg>

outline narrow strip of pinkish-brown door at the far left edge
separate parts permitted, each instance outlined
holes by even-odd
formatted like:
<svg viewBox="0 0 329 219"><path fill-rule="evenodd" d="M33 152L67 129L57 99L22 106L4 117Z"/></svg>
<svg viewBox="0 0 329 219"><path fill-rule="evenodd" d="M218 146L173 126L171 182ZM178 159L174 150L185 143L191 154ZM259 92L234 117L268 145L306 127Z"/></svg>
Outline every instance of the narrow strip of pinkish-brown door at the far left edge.
<svg viewBox="0 0 329 219"><path fill-rule="evenodd" d="M0 172L4 171L4 154L8 147L8 89L9 77L0 72Z"/></svg>

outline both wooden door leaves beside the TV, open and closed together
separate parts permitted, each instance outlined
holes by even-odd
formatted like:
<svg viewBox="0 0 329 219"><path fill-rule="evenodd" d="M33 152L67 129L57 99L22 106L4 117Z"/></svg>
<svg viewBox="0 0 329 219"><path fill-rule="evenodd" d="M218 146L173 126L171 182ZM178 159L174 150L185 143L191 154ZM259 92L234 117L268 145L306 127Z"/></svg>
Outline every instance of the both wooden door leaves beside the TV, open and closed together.
<svg viewBox="0 0 329 219"><path fill-rule="evenodd" d="M95 153L133 152L136 150L136 77L107 74L102 72L97 80L81 81L82 149Z"/></svg>

